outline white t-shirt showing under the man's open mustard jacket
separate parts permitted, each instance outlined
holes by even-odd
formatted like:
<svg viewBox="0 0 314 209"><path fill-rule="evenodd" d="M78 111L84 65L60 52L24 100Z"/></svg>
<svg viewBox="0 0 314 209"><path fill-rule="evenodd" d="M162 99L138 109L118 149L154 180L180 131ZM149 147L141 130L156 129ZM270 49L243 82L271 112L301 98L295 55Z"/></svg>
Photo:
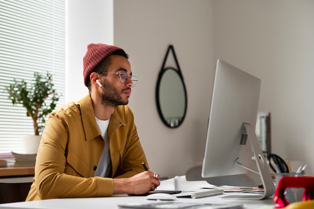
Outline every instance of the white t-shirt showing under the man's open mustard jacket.
<svg viewBox="0 0 314 209"><path fill-rule="evenodd" d="M96 122L97 122L98 129L100 131L100 134L103 136L105 140L105 147L99 159L99 163L97 165L97 169L94 176L111 177L111 158L110 158L109 140L108 140L108 134L107 134L109 121L110 121L110 118L108 120L99 120L98 118L96 118Z"/></svg>

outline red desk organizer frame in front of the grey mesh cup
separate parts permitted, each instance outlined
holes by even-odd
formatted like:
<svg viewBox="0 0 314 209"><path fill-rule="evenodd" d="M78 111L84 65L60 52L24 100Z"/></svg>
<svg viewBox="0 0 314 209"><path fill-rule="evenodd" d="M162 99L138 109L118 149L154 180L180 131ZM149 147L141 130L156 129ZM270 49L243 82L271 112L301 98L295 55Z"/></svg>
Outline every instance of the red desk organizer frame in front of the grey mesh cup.
<svg viewBox="0 0 314 209"><path fill-rule="evenodd" d="M302 201L314 199L314 177L312 176L283 176L279 179L274 194L274 208L283 208L290 204L284 195L286 188L304 188Z"/></svg>

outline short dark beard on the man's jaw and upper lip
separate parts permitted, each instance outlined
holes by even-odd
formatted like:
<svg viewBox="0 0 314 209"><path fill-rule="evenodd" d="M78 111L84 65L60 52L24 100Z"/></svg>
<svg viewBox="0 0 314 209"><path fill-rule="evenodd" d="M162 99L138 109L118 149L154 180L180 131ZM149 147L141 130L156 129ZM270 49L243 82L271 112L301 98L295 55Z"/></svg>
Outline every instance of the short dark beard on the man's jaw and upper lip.
<svg viewBox="0 0 314 209"><path fill-rule="evenodd" d="M118 105L127 105L128 100L123 100L121 94L130 88L123 89L120 93L114 86L112 86L106 79L102 85L101 104L109 107L116 107Z"/></svg>

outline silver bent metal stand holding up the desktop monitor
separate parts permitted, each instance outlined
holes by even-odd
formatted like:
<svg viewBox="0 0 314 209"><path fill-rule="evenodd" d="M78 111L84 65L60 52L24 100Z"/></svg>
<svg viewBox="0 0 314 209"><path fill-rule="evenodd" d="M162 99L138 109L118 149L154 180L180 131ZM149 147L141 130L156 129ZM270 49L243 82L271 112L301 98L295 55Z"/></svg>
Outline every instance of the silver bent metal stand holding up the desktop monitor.
<svg viewBox="0 0 314 209"><path fill-rule="evenodd" d="M247 123L243 123L243 126L245 127L245 130L247 132L248 138L251 143L253 156L255 158L255 162L258 168L258 171L252 170L249 167L246 167L245 165L242 165L238 160L236 159L234 162L234 166L238 165L241 167L244 167L250 171L256 172L259 174L261 178L261 182L263 183L264 192L262 194L248 194L248 195L228 195L221 198L228 198L228 199L264 199L274 194L275 192L275 186L274 181L270 175L267 161L264 157L264 154L260 148L260 144L258 143L255 129Z"/></svg>

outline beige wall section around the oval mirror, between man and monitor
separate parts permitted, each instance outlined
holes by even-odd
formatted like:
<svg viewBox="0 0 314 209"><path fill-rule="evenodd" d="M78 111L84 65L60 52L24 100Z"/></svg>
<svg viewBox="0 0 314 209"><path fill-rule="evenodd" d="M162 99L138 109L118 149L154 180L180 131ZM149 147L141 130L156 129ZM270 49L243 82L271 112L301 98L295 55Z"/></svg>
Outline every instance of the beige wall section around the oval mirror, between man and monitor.
<svg viewBox="0 0 314 209"><path fill-rule="evenodd" d="M113 8L114 44L129 54L138 78L129 106L150 169L161 176L184 175L201 163L205 146L214 67L212 2L115 0ZM158 73L170 44L188 94L185 121L176 129L163 124L155 103Z"/></svg>

